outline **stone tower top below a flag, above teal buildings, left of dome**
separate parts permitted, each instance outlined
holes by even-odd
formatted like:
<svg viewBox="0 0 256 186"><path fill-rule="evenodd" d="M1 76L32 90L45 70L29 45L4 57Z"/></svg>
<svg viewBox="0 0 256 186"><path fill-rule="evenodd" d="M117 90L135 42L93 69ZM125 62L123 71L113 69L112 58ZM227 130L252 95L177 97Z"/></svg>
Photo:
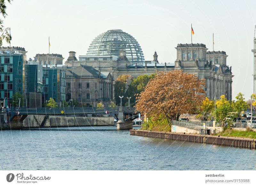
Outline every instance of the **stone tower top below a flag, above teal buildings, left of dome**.
<svg viewBox="0 0 256 186"><path fill-rule="evenodd" d="M62 65L63 59L61 54L36 54L38 65Z"/></svg>

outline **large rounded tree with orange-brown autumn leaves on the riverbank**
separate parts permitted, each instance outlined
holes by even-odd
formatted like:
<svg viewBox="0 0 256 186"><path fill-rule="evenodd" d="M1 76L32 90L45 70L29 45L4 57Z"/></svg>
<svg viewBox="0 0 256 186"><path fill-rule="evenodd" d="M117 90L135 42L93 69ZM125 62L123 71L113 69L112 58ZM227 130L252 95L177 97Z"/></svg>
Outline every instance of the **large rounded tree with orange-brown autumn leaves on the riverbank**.
<svg viewBox="0 0 256 186"><path fill-rule="evenodd" d="M136 110L148 117L179 120L181 114L194 113L205 97L204 80L183 70L157 72L145 91L137 97Z"/></svg>

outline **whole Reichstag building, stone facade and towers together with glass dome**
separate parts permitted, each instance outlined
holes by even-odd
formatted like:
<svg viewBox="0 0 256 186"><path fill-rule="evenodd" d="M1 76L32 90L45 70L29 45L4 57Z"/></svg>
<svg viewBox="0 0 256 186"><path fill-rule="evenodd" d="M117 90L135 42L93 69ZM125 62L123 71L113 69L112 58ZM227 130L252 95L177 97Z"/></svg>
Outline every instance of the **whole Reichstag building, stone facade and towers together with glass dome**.
<svg viewBox="0 0 256 186"><path fill-rule="evenodd" d="M152 61L145 61L136 39L122 30L113 29L97 36L86 55L81 55L77 59L76 52L70 51L65 65L69 67L86 65L100 72L110 72L114 83L122 74L137 77L141 74L153 74L156 71L184 70L205 79L206 96L210 99L220 98L224 94L227 99L232 100L232 67L227 66L228 55L225 51L207 51L205 44L202 43L180 43L175 49L177 58L173 62L159 63L156 51ZM99 86L103 89L104 84Z"/></svg>

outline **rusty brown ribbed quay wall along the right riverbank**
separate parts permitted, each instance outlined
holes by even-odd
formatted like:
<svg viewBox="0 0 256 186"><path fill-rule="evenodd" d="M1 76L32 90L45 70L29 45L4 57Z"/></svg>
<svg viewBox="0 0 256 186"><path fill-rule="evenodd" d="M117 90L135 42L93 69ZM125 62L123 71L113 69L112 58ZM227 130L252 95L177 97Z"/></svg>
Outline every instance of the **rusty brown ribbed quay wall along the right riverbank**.
<svg viewBox="0 0 256 186"><path fill-rule="evenodd" d="M227 146L227 147L256 149L256 139L249 139L249 138L185 134L185 133L173 133L173 132L153 132L148 130L134 130L134 129L130 130L130 135L161 138L161 139L176 140L176 141L185 141L185 142L191 142L191 143L205 143L205 144L220 145L220 146Z"/></svg>

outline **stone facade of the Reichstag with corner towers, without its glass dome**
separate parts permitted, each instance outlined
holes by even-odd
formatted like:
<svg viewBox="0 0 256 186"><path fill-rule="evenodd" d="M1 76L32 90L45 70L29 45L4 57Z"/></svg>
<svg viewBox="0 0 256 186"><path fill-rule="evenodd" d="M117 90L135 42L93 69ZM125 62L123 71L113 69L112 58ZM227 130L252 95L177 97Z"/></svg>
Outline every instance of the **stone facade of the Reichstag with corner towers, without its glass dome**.
<svg viewBox="0 0 256 186"><path fill-rule="evenodd" d="M156 71L169 72L171 70L184 70L189 74L205 79L206 96L210 99L220 98L225 95L232 100L232 72L226 65L226 52L207 51L204 44L178 44L177 58L174 63L158 63L157 54L153 55L153 61L145 61L143 64L132 64L125 59L125 53L119 56L79 56L79 60L67 60L67 66L80 66L80 64L92 66L100 72L110 72L113 79L122 74L138 77L141 74L153 74ZM74 54L74 53L73 53ZM74 56L73 56L74 57Z"/></svg>

